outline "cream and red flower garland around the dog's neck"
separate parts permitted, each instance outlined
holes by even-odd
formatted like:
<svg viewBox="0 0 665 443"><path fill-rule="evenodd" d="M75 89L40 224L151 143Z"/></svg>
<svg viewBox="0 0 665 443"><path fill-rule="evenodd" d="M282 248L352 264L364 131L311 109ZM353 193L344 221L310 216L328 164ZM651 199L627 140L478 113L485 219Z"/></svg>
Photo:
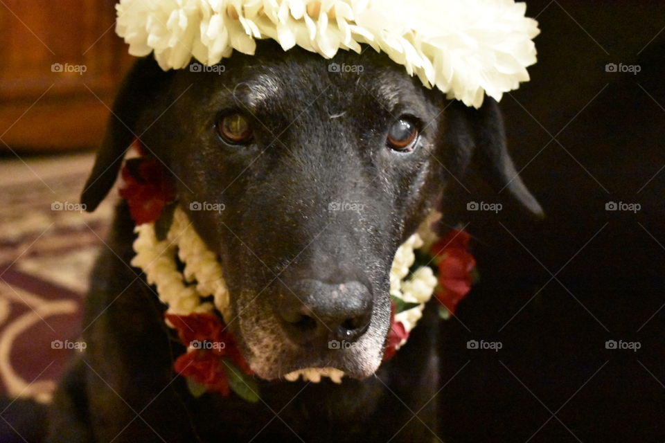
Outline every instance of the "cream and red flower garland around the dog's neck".
<svg viewBox="0 0 665 443"><path fill-rule="evenodd" d="M138 142L134 147L142 154ZM120 195L136 222L132 266L156 287L159 300L167 306L166 325L175 329L186 347L174 363L175 371L186 378L196 397L206 391L229 395L232 390L247 401L257 401L256 379L226 326L232 318L222 267L178 206L168 173L157 159L139 156L125 161L122 177ZM432 211L393 259L391 326L384 361L407 343L432 296L441 305L441 318L449 318L475 278L470 236L451 230L438 238L431 227L439 217ZM342 383L344 372L307 368L285 375L288 381L301 377L313 382L329 377Z"/></svg>

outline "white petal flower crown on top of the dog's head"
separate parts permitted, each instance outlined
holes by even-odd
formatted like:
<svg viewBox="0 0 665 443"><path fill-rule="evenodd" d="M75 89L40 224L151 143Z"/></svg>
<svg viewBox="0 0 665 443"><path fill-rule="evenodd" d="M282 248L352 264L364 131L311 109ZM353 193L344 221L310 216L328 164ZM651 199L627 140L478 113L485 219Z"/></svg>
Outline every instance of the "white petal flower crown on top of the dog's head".
<svg viewBox="0 0 665 443"><path fill-rule="evenodd" d="M540 32L514 0L120 0L116 10L130 54L154 51L164 70L254 54L256 39L328 59L368 44L474 107L529 80Z"/></svg>

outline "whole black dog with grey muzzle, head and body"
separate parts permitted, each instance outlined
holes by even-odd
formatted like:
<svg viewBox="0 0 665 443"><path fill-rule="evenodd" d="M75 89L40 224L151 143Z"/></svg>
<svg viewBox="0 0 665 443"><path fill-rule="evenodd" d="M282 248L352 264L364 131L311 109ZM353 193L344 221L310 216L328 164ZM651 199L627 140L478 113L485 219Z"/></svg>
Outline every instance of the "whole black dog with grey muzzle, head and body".
<svg viewBox="0 0 665 443"><path fill-rule="evenodd" d="M362 73L330 69L331 62ZM224 68L164 72L151 58L139 60L82 202L94 210L107 195L139 136L176 177L183 208L225 205L189 216L221 257L237 315L229 327L260 377L261 401L195 399L175 376L172 363L184 349L129 265L134 224L121 204L93 273L87 350L62 380L45 440L436 440L436 305L379 367L389 271L398 246L469 165L540 213L508 157L496 102L487 98L481 109L449 102L371 49L326 61L262 42L256 55L233 55ZM225 133L229 122L244 132ZM363 210L331 212L336 201ZM346 292L333 300L339 284ZM329 350L328 340L339 337L356 345ZM348 377L339 385L280 379L322 365Z"/></svg>

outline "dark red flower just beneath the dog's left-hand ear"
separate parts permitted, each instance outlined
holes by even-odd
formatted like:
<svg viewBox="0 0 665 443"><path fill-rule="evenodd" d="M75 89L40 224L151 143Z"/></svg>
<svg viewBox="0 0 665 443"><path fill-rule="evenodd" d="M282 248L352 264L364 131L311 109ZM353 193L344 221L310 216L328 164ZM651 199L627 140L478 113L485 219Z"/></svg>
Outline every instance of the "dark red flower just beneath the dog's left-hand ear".
<svg viewBox="0 0 665 443"><path fill-rule="evenodd" d="M136 224L156 221L164 206L175 199L170 176L161 162L153 157L125 161L122 177L124 183L120 195L129 204Z"/></svg>

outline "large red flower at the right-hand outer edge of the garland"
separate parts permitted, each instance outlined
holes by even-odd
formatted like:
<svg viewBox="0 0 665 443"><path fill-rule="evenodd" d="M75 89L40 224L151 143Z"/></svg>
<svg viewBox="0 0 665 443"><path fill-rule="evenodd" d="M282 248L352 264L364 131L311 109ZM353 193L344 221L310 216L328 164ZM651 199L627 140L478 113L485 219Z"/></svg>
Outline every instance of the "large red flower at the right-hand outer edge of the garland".
<svg viewBox="0 0 665 443"><path fill-rule="evenodd" d="M438 261L438 284L436 298L450 314L455 313L457 303L471 290L471 271L476 260L468 252L470 235L464 230L451 230L432 246Z"/></svg>

